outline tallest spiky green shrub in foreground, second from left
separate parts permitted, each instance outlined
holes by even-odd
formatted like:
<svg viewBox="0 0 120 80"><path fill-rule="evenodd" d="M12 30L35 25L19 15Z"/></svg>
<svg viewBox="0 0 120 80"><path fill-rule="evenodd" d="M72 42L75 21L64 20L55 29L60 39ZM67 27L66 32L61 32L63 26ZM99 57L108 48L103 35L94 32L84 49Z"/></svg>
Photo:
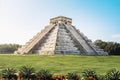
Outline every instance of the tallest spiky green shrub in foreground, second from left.
<svg viewBox="0 0 120 80"><path fill-rule="evenodd" d="M35 79L35 70L31 66L22 66L20 68L20 76L23 79L34 80Z"/></svg>

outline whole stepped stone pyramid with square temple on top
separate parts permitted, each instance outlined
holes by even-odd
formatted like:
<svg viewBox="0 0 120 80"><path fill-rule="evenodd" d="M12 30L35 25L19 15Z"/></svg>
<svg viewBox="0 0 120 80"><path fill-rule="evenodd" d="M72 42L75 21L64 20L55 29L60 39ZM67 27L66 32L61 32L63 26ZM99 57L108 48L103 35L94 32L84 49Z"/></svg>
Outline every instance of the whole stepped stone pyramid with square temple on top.
<svg viewBox="0 0 120 80"><path fill-rule="evenodd" d="M72 19L58 16L15 54L108 55L72 25Z"/></svg>

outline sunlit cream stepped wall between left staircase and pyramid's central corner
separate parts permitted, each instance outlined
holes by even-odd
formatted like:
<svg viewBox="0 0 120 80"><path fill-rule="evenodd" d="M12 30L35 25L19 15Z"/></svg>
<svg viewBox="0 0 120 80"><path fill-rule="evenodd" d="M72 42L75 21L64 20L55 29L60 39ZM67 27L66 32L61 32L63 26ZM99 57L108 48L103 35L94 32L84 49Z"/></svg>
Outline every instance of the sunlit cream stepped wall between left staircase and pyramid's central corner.
<svg viewBox="0 0 120 80"><path fill-rule="evenodd" d="M56 39L57 39L58 25L48 33L43 43L35 50L35 53L40 54L54 54Z"/></svg>

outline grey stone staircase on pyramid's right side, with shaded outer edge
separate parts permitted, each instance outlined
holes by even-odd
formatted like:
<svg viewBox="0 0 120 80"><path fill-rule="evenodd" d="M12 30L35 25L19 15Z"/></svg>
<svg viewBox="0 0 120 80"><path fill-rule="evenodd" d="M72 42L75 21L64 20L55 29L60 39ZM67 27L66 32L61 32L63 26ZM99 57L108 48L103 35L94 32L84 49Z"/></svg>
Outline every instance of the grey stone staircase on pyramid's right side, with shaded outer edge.
<svg viewBox="0 0 120 80"><path fill-rule="evenodd" d="M86 51L89 52L88 55L108 55L107 52L104 52L103 49L100 49L98 46L94 45L91 40L84 36L83 33L80 33L80 31L77 30L74 26L69 25L67 28L71 30L71 33L74 35L74 37L76 37L76 39L80 42L81 45L83 45Z"/></svg>

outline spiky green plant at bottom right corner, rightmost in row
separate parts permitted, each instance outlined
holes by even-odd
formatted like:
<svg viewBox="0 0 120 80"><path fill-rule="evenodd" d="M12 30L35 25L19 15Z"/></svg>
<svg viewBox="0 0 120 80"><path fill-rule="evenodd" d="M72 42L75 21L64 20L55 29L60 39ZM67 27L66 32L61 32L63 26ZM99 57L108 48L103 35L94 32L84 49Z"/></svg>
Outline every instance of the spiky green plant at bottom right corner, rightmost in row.
<svg viewBox="0 0 120 80"><path fill-rule="evenodd" d="M106 74L106 80L120 80L120 72L116 69L111 69Z"/></svg>

